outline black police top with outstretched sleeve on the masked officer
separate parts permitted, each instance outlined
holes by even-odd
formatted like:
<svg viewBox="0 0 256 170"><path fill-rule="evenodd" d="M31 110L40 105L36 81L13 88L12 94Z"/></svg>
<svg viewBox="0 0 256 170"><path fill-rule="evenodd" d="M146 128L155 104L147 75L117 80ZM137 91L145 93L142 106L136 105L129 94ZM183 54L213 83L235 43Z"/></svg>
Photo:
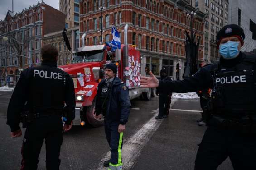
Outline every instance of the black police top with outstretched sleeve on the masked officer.
<svg viewBox="0 0 256 170"><path fill-rule="evenodd" d="M159 81L159 88L166 92L184 93L212 88L215 84L219 94L214 102L217 103L215 113L228 116L251 114L256 109L255 59L255 56L246 56L242 52L231 60L221 57L218 64L203 67L192 77L177 81Z"/></svg>

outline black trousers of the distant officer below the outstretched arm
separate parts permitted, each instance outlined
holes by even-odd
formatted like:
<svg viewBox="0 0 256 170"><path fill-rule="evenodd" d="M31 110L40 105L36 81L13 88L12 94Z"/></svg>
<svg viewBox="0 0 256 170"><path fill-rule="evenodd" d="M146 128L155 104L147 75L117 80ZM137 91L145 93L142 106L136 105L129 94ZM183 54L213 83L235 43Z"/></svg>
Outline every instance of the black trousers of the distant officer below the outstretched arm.
<svg viewBox="0 0 256 170"><path fill-rule="evenodd" d="M170 104L171 104L171 97L168 97L168 95L159 93L159 110L158 115L169 115L170 110Z"/></svg>

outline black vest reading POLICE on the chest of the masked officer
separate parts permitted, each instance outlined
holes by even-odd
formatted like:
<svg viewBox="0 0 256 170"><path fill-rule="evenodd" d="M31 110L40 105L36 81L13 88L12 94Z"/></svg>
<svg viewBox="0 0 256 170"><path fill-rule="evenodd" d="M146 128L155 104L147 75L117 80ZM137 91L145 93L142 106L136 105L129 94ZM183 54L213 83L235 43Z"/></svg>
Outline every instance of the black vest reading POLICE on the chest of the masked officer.
<svg viewBox="0 0 256 170"><path fill-rule="evenodd" d="M213 99L213 110L217 115L256 115L255 64L254 58L247 56L234 67L219 65L213 76L219 94Z"/></svg>

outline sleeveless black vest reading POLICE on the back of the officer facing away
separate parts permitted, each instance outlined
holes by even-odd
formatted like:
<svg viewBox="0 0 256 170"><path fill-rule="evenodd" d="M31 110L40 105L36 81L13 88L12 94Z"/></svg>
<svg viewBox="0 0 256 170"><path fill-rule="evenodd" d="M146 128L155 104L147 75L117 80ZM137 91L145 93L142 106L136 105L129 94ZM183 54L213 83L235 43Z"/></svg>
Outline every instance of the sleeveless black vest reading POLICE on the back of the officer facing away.
<svg viewBox="0 0 256 170"><path fill-rule="evenodd" d="M58 69L56 62L42 62L31 72L29 107L40 114L61 114L68 74Z"/></svg>

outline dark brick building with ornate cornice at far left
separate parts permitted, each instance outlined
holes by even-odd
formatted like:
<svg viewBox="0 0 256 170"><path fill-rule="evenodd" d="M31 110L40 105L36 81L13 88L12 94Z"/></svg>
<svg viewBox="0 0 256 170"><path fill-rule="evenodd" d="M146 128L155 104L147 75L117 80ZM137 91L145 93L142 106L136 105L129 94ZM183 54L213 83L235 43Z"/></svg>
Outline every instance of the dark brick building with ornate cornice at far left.
<svg viewBox="0 0 256 170"><path fill-rule="evenodd" d="M6 84L7 74L14 74L14 80L17 81L18 69L40 64L43 36L63 28L65 14L43 1L16 14L8 11L4 20L0 21L1 84ZM9 38L6 41L3 37ZM15 55L17 53L28 58Z"/></svg>

